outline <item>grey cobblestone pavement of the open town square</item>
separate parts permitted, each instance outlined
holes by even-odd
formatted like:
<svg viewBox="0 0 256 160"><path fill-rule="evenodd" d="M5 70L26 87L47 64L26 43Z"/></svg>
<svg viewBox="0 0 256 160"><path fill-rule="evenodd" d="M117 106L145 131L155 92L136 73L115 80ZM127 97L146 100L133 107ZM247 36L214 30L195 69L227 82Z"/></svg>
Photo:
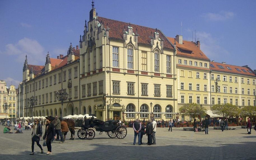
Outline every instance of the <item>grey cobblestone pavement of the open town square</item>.
<svg viewBox="0 0 256 160"><path fill-rule="evenodd" d="M11 127L13 128L13 127ZM31 133L23 131L23 134L4 134L4 126L0 126L0 159L255 159L256 133L248 135L246 129L237 127L235 130L213 130L209 128L209 134L204 132L183 131L183 128L157 128L156 145L145 145L147 137L143 136L143 145L133 145L134 132L127 128L128 133L124 139L111 139L107 134L99 135L96 132L92 140L69 140L59 144L52 143L52 154L46 155L47 147L43 147L44 154L40 153L35 144L31 153ZM44 130L44 126L43 126ZM44 133L44 132L43 132ZM76 132L77 133L77 132ZM43 140L40 141L43 144Z"/></svg>

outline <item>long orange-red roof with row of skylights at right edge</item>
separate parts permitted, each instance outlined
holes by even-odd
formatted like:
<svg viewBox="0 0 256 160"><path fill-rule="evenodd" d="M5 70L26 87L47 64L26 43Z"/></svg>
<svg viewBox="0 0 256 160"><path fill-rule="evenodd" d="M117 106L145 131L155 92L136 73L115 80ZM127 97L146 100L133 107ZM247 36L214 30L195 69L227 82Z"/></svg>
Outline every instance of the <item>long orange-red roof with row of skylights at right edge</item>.
<svg viewBox="0 0 256 160"><path fill-rule="evenodd" d="M222 72L227 72L227 73L236 73L236 74L243 74L243 75L249 75L249 76L256 76L254 71L248 66L236 66L236 65L223 64L223 63L218 63L218 62L210 62L210 69L214 70L214 71L222 71ZM240 70L240 71L238 71L238 70Z"/></svg>

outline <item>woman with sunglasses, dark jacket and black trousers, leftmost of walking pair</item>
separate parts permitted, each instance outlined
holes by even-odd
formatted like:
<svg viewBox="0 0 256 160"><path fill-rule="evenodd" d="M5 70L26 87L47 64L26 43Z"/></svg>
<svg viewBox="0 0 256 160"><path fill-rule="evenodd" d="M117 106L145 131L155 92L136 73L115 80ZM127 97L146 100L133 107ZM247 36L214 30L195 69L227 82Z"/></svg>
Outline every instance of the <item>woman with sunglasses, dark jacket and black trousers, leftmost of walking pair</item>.
<svg viewBox="0 0 256 160"><path fill-rule="evenodd" d="M42 137L43 131L42 131L42 126L39 124L39 119L36 118L34 119L34 125L32 128L32 153L30 155L34 154L34 143L37 143L37 146L41 149L41 153L43 153L43 148L39 144L40 138Z"/></svg>

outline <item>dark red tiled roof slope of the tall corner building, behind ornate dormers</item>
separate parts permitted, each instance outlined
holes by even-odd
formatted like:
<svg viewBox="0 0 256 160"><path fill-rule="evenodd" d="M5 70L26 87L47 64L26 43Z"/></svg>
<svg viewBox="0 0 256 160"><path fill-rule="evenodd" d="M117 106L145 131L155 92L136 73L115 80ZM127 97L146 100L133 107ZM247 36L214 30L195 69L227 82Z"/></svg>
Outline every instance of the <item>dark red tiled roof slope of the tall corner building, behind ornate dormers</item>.
<svg viewBox="0 0 256 160"><path fill-rule="evenodd" d="M135 30L137 29L137 32L139 34L138 36L138 44L144 44L147 46L151 46L150 44L150 37L153 36L154 32L156 31L155 28L149 28L149 27L144 27L144 26L139 26L139 25L134 25L134 24L129 24L126 22L121 22L121 21L116 21L116 20L111 20L108 18L103 18L103 17L98 17L99 22L103 22L105 28L110 28L109 30L109 37L117 40L122 40L123 41L123 29L124 26L131 26L133 27L133 32L135 33ZM108 24L108 25L107 25ZM125 28L127 29L127 28ZM164 48L168 49L174 49L172 44L167 40L167 38L164 36L164 34L160 31L157 30L159 33L159 37L161 40L164 41ZM151 35L152 33L152 35Z"/></svg>

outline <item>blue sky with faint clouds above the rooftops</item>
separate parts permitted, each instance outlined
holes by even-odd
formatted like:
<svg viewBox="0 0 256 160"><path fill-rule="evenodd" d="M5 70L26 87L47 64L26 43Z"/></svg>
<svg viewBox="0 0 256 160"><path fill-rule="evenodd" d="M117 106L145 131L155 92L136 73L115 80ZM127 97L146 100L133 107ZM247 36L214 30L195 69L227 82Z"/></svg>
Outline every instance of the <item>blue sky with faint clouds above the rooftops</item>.
<svg viewBox="0 0 256 160"><path fill-rule="evenodd" d="M98 16L200 41L210 60L256 69L255 0L95 0ZM44 65L79 45L91 0L1 0L0 79L22 81L23 64ZM111 28L110 28L111 29ZM193 35L193 36L192 36ZM196 38L195 38L196 36Z"/></svg>

